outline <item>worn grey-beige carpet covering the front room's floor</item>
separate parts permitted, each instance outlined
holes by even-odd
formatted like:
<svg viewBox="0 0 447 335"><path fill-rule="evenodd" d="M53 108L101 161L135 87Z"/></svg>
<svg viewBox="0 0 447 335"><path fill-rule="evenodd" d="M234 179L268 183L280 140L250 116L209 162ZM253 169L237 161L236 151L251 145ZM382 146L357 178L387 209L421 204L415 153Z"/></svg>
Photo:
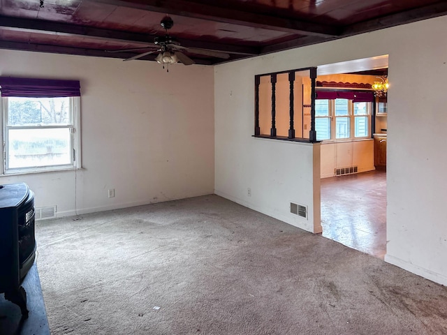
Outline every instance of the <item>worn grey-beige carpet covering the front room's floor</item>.
<svg viewBox="0 0 447 335"><path fill-rule="evenodd" d="M447 334L447 289L217 195L39 221L52 334Z"/></svg>

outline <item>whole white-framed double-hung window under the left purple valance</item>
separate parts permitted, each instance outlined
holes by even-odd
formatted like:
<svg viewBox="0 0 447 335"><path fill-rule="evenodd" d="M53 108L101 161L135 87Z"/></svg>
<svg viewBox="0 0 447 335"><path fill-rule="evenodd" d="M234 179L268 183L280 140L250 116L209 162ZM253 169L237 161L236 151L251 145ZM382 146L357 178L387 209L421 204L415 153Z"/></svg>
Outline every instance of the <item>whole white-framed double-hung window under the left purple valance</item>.
<svg viewBox="0 0 447 335"><path fill-rule="evenodd" d="M7 89L2 85L1 91L3 96ZM2 97L1 174L80 168L79 96L15 94Z"/></svg>

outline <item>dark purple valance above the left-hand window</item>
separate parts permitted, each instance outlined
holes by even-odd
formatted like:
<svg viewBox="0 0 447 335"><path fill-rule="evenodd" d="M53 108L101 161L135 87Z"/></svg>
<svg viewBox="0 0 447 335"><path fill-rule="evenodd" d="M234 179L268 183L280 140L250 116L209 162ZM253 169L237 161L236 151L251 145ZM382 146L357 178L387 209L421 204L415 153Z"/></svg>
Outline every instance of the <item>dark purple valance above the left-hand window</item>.
<svg viewBox="0 0 447 335"><path fill-rule="evenodd" d="M58 98L81 96L79 80L0 77L1 96Z"/></svg>

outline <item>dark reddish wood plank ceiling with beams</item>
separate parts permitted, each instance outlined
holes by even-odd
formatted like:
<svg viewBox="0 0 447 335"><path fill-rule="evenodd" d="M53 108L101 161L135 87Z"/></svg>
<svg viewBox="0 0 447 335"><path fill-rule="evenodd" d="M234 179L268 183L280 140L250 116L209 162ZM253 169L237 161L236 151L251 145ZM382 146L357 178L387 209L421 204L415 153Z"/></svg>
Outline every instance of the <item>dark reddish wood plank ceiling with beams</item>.
<svg viewBox="0 0 447 335"><path fill-rule="evenodd" d="M184 54L219 64L446 14L445 0L0 0L0 48L154 60L169 15L182 47L230 57Z"/></svg>

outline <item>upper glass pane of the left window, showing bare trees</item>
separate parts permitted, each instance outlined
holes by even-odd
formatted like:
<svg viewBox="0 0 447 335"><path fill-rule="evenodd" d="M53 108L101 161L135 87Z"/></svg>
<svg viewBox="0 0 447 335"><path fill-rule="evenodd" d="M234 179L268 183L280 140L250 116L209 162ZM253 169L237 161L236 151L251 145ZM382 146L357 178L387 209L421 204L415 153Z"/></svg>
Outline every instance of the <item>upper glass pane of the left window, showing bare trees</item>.
<svg viewBox="0 0 447 335"><path fill-rule="evenodd" d="M8 126L73 124L70 98L8 98Z"/></svg>

